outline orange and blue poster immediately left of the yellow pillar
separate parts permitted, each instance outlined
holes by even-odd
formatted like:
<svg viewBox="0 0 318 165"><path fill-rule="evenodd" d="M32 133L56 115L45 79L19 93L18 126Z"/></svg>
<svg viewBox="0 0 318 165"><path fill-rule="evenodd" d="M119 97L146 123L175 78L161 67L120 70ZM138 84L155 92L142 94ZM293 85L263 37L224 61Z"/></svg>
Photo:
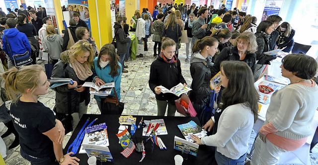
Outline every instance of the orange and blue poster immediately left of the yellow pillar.
<svg viewBox="0 0 318 165"><path fill-rule="evenodd" d="M68 0L68 7L70 8L71 6L74 11L79 12L79 17L86 23L89 32L91 33L87 0Z"/></svg>

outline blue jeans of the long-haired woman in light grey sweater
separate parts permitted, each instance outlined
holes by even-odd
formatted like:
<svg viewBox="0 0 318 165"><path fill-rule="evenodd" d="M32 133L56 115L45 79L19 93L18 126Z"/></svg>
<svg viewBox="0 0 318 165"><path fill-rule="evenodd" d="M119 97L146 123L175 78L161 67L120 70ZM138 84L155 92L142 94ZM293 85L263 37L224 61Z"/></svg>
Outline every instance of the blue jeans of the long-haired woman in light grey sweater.
<svg viewBox="0 0 318 165"><path fill-rule="evenodd" d="M231 158L228 158L218 151L215 152L215 159L217 160L218 165L244 165L245 159L246 159L246 153L239 157L239 159L234 160ZM261 165L261 164L259 164Z"/></svg>

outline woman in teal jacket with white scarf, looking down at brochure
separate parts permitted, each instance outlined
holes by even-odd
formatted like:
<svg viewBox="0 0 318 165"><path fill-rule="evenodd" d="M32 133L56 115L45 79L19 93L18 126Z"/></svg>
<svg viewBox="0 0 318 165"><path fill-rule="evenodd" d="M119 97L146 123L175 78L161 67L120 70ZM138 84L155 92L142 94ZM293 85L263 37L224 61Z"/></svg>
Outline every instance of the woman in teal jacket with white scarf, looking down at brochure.
<svg viewBox="0 0 318 165"><path fill-rule="evenodd" d="M122 65L119 62L115 47L112 44L105 44L94 59L93 82L99 87L105 83L115 82L115 91L120 100L120 83ZM114 91L109 96L115 97ZM105 97L94 95L99 110L101 110L101 99Z"/></svg>

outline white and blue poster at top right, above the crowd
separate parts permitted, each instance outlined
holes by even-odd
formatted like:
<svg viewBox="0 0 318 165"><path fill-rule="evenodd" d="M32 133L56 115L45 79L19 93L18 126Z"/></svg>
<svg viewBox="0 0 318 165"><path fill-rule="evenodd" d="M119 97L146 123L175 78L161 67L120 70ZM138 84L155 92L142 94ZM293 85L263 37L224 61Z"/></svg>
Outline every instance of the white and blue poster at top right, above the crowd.
<svg viewBox="0 0 318 165"><path fill-rule="evenodd" d="M279 15L284 0L266 0L261 21L271 15Z"/></svg>

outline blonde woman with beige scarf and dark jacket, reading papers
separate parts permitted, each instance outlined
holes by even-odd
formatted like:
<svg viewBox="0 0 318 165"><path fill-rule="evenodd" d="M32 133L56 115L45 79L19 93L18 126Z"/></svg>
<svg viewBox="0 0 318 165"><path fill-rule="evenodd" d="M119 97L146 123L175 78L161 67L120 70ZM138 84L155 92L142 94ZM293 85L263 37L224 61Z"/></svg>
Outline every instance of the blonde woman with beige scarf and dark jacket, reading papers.
<svg viewBox="0 0 318 165"><path fill-rule="evenodd" d="M56 111L59 113L72 112L73 130L81 116L87 112L90 102L89 88L82 87L85 82L92 81L94 51L86 41L77 42L69 51L61 54L52 70L52 77L72 78L74 84L66 84L53 88L56 91Z"/></svg>

